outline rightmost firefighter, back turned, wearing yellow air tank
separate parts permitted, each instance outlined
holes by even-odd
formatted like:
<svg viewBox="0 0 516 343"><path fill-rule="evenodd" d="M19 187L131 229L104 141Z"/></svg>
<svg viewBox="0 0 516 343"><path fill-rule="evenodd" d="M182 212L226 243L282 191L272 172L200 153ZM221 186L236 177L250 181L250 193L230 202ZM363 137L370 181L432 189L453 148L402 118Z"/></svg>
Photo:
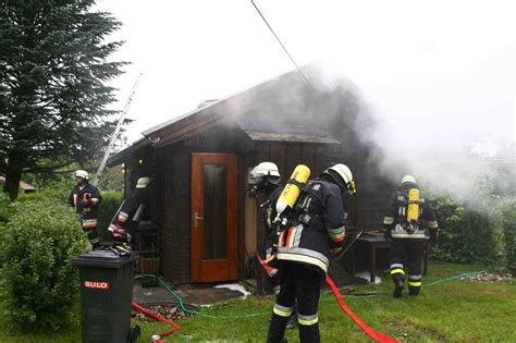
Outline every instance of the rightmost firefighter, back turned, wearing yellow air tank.
<svg viewBox="0 0 516 343"><path fill-rule="evenodd" d="M438 221L430 204L419 196L416 179L405 175L393 193L391 206L383 218L383 233L391 242L391 277L394 297L402 295L405 285L405 267L408 267L408 290L411 296L421 289L421 262L425 244L433 244L438 234ZM406 259L405 259L406 258ZM405 266L407 261L408 266Z"/></svg>

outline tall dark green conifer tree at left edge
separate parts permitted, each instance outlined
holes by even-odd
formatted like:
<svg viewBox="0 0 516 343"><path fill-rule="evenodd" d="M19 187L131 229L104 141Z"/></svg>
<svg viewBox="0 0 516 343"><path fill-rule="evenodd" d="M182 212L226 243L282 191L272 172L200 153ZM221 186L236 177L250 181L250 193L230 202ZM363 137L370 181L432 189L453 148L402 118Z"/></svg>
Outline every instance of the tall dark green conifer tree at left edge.
<svg viewBox="0 0 516 343"><path fill-rule="evenodd" d="M126 62L106 42L121 23L93 12L95 0L0 2L0 173L16 199L22 173L84 161L105 145L114 121L106 83Z"/></svg>

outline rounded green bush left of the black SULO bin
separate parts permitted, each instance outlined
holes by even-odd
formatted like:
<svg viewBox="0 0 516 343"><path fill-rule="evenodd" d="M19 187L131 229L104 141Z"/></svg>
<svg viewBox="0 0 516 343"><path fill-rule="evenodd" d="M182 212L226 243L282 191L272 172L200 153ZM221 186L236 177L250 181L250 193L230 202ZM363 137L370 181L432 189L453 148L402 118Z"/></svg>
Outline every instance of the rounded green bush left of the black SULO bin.
<svg viewBox="0 0 516 343"><path fill-rule="evenodd" d="M57 331L77 322L78 270L85 252L72 209L52 199L14 203L0 223L3 308L14 331Z"/></svg>

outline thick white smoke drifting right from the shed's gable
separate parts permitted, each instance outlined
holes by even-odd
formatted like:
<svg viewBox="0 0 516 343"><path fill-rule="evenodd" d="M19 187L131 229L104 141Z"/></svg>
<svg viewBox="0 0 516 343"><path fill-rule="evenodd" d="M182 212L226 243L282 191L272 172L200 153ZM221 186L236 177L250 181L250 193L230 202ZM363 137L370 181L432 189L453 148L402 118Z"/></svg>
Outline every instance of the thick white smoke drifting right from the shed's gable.
<svg viewBox="0 0 516 343"><path fill-rule="evenodd" d="M356 155L365 166L359 173L367 174L357 175L367 183L363 189L374 191L373 174L393 185L413 174L425 193L475 206L486 203L479 189L487 179L505 194L516 192L515 168L497 172L500 161L515 164L507 76L479 65L445 82L379 87L355 83L322 61L303 72L309 84L294 70L230 98L228 112L241 113L244 130L331 132L343 143L344 162L353 157L349 147L367 147Z"/></svg>

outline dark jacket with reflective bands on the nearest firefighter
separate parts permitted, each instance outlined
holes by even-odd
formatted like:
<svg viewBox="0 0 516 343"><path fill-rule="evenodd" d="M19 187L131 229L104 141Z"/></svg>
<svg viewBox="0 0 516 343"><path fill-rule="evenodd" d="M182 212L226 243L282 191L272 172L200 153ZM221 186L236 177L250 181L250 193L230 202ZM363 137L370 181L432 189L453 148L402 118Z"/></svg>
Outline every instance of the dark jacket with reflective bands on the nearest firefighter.
<svg viewBox="0 0 516 343"><path fill-rule="evenodd" d="M280 193L274 195L271 198L273 208ZM300 262L324 275L331 249L343 245L347 209L343 207L339 186L321 180L308 184L302 203L300 216L309 220L294 222L293 226L281 231L278 260Z"/></svg>

